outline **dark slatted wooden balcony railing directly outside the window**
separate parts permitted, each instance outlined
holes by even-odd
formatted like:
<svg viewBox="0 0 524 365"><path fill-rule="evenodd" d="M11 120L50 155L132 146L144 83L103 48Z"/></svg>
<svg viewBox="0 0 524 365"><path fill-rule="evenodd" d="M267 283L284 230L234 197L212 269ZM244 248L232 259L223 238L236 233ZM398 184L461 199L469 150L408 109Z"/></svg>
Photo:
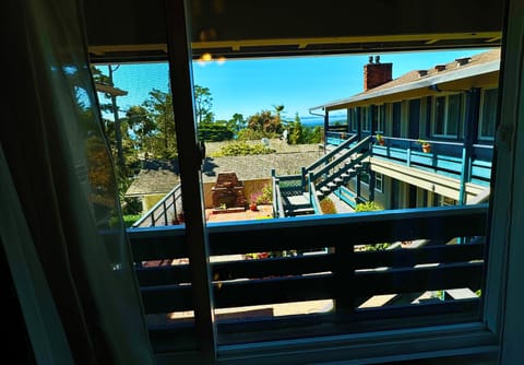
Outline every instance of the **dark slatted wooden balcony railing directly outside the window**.
<svg viewBox="0 0 524 365"><path fill-rule="evenodd" d="M337 326L342 322L355 323L369 318L380 318L380 326L385 328L402 327L409 323L408 317L450 314L450 317L444 316L448 319L441 316L440 320L461 321L464 316L477 314L478 297L443 302L433 298L427 304L424 301L415 304L415 298L431 291L445 293L445 290L464 289L476 292L481 289L487 209L487 204L478 204L330 217L311 215L264 220L263 223L210 223L214 306L237 308L317 299L334 302L334 309L325 316L317 314L286 319L288 328L294 328L296 320L297 326L330 322L340 329ZM140 262L188 257L183 226L133 228L128 233L133 257ZM455 237L476 238L462 240L469 244L450 244ZM409 244L416 240L427 244ZM403 245L386 250L356 249L380 243ZM311 252L325 247L329 247L327 251L314 255L255 260L245 256L285 250ZM166 315L193 308L189 264L139 267L136 275L146 314ZM362 307L367 299L386 294L394 295L400 304ZM404 325L388 325L385 320L400 317ZM263 319L263 325L257 325L260 320L240 320L242 330L254 331L257 326L277 329L284 318L270 316ZM188 328L192 322L167 320L164 325ZM229 325L237 326L238 320L236 325ZM229 325L221 325L224 333L233 333L228 332ZM166 330L166 327L162 328L157 330ZM350 330L344 328L344 331ZM336 332L334 328L331 331Z"/></svg>

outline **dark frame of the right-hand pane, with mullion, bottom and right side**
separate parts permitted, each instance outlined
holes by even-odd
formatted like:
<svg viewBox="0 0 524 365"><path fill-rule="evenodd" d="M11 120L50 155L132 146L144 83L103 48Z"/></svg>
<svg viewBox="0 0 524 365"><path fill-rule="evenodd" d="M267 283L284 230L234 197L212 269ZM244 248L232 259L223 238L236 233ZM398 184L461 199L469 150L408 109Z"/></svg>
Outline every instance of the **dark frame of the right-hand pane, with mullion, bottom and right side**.
<svg viewBox="0 0 524 365"><path fill-rule="evenodd" d="M168 1L167 3L174 2ZM524 15L524 4L521 2L510 0L510 8L508 12ZM169 25L177 25L170 28L170 34L172 35L176 34L176 32L172 32L174 30L180 31L180 28L184 28L186 19L182 16L182 22L177 23L177 21L180 21L178 17L180 15L177 16L174 9L169 5L167 9L170 14L168 15L168 27ZM509 27L508 34L504 33L504 39L507 39L502 56L504 72L501 72L501 85L503 87L499 89L502 90L499 93L499 120L501 120L501 126L497 129L497 134L501 134L501 138L497 145L498 153L493 164L493 170L497 168L501 173L495 175L495 181L492 182L495 191L507 191L510 193L491 195L489 214L492 220L489 240L508 243L508 245L489 245L490 259L487 263L486 299L483 320L463 325L408 330L230 345L223 346L218 351L215 349L216 342L214 342L213 331L209 331L210 322L198 320L196 332L204 334L203 337L199 335L201 351L199 354L183 354L180 356L183 358L192 356L211 358L218 364L242 364L249 360L254 361L257 364L269 364L274 361L293 363L306 360L310 362L336 362L359 361L362 358L367 358L368 362L388 362L468 354L491 356L492 358L492 356L497 357L500 352L500 358L503 362L511 363L512 360L516 360L519 354L515 354L514 348L512 349L511 345L519 345L516 341L520 340L519 334L522 331L523 319L520 316L520 311L522 306L524 306L524 295L516 287L519 287L520 280L524 274L524 268L519 262L520 258L524 257L524 248L522 245L519 245L515 238L524 235L522 224L519 224L524 220L524 212L519 212L519 207L512 204L512 201L513 199L515 201L524 200L524 191L517 188L524 184L524 177L516 172L515 167L524 163L524 143L516 145L515 151L515 139L512 137L514 134L505 133L505 131L516 130L516 118L512 118L516 113L514 105L519 105L521 122L524 115L524 99L520 95L520 90L524 87L524 76L519 63L519 60L524 56L521 36L524 34L524 25L522 22L519 23L517 20L520 20L519 16L512 16L510 25L507 25ZM188 39L182 44L179 40L177 43L175 38L169 38L168 48L170 48L170 54L174 54L184 48L187 49L188 44ZM521 57L513 56L513 58L505 60L505 54L519 55ZM188 64L190 64L188 60L183 60L183 63L175 62L175 58L170 58L169 63L170 72L172 72L171 79L177 79L180 72L182 75L186 74ZM174 66L178 66L179 69ZM183 84L172 86L174 93L190 94L191 92L188 92L188 90L191 90L191 87ZM176 115L180 115L180 113L182 115L188 114L191 105L188 99L184 98L183 103L179 103L178 106L175 105ZM519 137L523 138L522 132ZM194 140L194 131L180 130L179 139ZM189 146L182 149L181 157L184 155L189 157ZM194 145L191 146L191 152L194 152ZM201 161L198 161L198 158L190 157L187 166L198 172L200 163ZM202 203L198 197L190 196L187 190L182 191L182 196L188 201L188 205L200 207ZM192 219L199 220L198 212L199 209L196 208ZM203 216L200 216L200 220L203 220ZM204 236L205 229L195 233L195 237L205 247ZM510 250L512 251L511 256L509 255ZM520 255L515 255L515 252ZM190 254L194 256L199 252L192 251ZM191 257L191 260L193 259L194 257ZM196 257L196 259L195 262L192 262L194 271L205 273L209 262L202 260L202 257L200 259ZM513 289L513 292L511 289ZM212 308L212 303L207 304L205 295L195 296L195 298L198 301L196 307ZM205 303L202 304L203 302ZM377 352L378 346L381 350L380 354ZM174 356L176 357L176 355ZM159 364L167 363L168 358L172 357L169 357L168 354L160 354L158 356Z"/></svg>

